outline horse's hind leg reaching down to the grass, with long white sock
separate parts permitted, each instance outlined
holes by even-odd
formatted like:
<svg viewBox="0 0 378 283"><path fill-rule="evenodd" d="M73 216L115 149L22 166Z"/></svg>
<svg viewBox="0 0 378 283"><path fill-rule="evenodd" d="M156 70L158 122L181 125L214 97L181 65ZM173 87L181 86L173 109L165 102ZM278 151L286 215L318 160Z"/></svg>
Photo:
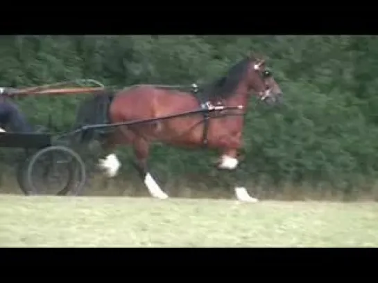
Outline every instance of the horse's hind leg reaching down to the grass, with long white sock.
<svg viewBox="0 0 378 283"><path fill-rule="evenodd" d="M156 183L151 173L148 172L147 160L150 145L148 145L148 142L144 140L144 138L135 138L133 147L137 158L135 167L141 176L141 179L144 181L148 192L150 192L152 197L157 199L167 199L168 195L160 189L160 185Z"/></svg>

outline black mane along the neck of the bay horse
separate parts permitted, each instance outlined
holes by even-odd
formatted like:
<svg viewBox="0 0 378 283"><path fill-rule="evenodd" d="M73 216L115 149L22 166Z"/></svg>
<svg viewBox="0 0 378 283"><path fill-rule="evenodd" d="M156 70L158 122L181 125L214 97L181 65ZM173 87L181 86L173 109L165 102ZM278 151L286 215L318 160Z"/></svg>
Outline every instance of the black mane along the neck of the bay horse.
<svg viewBox="0 0 378 283"><path fill-rule="evenodd" d="M252 59L248 57L234 64L223 77L203 86L199 94L209 100L230 98L230 96L234 94L239 82L246 75L248 64L251 60Z"/></svg>

